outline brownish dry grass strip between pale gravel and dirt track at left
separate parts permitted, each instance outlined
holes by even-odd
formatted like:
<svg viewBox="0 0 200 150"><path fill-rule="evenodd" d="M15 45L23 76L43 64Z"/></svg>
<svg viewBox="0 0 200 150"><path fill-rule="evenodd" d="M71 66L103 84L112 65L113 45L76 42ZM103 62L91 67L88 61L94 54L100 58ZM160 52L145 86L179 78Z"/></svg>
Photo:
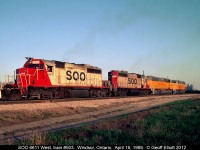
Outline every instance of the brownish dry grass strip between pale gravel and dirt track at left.
<svg viewBox="0 0 200 150"><path fill-rule="evenodd" d="M0 127L5 127L14 124L39 121L53 117L60 117L82 112L95 111L95 108L80 107L80 108L53 108L53 109L38 109L38 110L18 110L18 111L0 111Z"/></svg>

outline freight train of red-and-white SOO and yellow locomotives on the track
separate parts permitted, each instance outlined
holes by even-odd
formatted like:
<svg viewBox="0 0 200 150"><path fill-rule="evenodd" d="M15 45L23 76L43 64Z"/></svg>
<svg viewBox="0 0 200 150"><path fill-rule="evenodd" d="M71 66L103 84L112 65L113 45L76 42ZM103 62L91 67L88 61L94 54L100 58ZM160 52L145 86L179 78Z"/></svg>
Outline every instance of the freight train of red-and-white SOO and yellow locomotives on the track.
<svg viewBox="0 0 200 150"><path fill-rule="evenodd" d="M186 91L186 84L144 74L112 70L102 80L102 69L88 64L26 57L16 69L14 84L0 90L2 100L52 99L68 97L109 97L147 94L176 94Z"/></svg>

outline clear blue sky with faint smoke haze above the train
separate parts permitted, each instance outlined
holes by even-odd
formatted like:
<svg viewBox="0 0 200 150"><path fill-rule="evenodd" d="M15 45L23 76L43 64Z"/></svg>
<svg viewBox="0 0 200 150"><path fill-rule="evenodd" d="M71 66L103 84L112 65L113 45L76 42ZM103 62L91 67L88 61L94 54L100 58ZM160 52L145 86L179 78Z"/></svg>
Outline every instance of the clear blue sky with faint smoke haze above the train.
<svg viewBox="0 0 200 150"><path fill-rule="evenodd" d="M25 57L182 80L200 89L199 0L0 0L0 81Z"/></svg>

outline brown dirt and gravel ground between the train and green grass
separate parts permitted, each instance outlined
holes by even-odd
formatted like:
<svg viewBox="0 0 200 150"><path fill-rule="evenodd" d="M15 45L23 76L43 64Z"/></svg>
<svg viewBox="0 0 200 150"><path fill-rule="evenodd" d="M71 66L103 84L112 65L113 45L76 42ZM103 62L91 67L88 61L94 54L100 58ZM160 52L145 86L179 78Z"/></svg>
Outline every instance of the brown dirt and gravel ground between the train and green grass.
<svg viewBox="0 0 200 150"><path fill-rule="evenodd" d="M176 100L196 98L200 98L200 94L0 105L0 144L12 144L38 132L61 130Z"/></svg>

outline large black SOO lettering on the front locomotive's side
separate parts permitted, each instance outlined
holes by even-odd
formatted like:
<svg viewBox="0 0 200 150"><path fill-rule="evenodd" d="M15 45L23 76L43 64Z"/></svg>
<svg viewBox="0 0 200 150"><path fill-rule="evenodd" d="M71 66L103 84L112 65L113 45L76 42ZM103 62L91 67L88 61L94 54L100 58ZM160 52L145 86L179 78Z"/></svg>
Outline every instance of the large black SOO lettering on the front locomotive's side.
<svg viewBox="0 0 200 150"><path fill-rule="evenodd" d="M78 80L85 81L84 72L80 72L79 74L77 71L72 72L71 70L67 70L66 75L67 75L67 78L66 78L67 80L74 79L75 81L78 81Z"/></svg>

